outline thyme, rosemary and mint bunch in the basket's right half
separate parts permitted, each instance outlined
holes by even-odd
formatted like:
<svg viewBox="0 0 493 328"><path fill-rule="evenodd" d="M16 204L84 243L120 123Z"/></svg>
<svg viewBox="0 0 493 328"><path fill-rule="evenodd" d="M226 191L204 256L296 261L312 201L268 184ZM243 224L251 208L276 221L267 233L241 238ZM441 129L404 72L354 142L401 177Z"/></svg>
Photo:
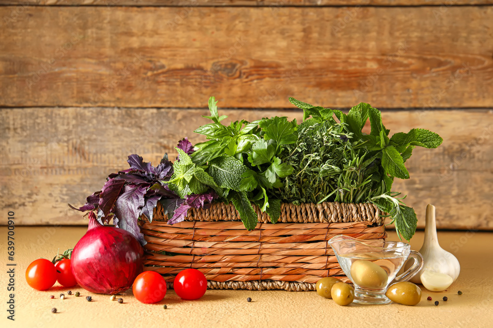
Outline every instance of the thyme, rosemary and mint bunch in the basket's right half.
<svg viewBox="0 0 493 328"><path fill-rule="evenodd" d="M391 191L392 182L394 178L409 179L404 162L416 146L437 148L443 139L425 129L389 138L380 111L366 103L352 107L346 115L294 98L289 101L303 109L304 121L296 145L289 145L281 155L294 168L279 189L282 200L373 203L389 214L399 238L411 239L416 213L402 202L405 196L397 197L400 193ZM362 132L368 118L369 135Z"/></svg>

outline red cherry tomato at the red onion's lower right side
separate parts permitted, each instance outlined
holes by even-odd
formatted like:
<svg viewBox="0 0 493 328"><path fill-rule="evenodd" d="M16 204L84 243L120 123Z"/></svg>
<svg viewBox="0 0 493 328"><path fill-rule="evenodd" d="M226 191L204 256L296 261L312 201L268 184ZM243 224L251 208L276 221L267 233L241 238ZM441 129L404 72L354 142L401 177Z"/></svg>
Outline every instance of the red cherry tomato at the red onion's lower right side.
<svg viewBox="0 0 493 328"><path fill-rule="evenodd" d="M159 302L166 295L166 280L155 271L144 271L135 278L132 291L142 303Z"/></svg>

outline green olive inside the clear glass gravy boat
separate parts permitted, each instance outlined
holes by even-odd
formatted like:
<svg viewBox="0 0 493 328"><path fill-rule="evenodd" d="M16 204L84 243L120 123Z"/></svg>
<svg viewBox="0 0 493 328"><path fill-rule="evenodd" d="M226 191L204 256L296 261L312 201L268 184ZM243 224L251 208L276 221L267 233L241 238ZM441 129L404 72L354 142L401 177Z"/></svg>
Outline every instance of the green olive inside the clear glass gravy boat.
<svg viewBox="0 0 493 328"><path fill-rule="evenodd" d="M387 272L373 262L354 261L351 265L352 282L366 288L382 288L387 285Z"/></svg>

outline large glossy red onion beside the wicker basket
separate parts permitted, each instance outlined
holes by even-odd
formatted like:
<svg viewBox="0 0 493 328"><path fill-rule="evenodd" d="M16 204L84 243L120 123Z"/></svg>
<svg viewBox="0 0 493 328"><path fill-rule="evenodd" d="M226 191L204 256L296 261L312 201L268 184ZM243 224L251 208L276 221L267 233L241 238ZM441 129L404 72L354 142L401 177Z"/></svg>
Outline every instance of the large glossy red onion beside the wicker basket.
<svg viewBox="0 0 493 328"><path fill-rule="evenodd" d="M70 257L79 286L99 294L118 294L129 289L143 269L144 250L134 235L104 226L93 212L89 227Z"/></svg>

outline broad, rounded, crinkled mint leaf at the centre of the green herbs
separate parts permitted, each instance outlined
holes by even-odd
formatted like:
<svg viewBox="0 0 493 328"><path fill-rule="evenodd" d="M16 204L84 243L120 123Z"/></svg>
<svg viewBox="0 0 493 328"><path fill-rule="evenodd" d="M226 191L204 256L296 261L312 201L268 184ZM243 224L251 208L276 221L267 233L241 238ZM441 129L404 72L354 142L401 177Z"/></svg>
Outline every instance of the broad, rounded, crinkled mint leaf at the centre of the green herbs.
<svg viewBox="0 0 493 328"><path fill-rule="evenodd" d="M230 188L236 191L241 189L242 175L247 167L242 161L231 157L221 156L209 162L209 173L220 187Z"/></svg>

